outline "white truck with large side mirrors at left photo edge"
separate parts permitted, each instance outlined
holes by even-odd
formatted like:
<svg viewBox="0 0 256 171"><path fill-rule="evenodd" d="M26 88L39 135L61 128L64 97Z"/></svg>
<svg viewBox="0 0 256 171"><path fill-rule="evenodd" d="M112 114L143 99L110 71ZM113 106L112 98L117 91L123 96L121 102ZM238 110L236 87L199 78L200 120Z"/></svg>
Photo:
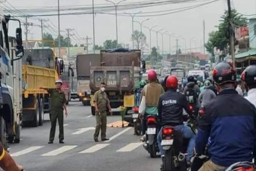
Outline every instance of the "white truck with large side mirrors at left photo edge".
<svg viewBox="0 0 256 171"><path fill-rule="evenodd" d="M22 67L24 54L20 21L6 16L0 9L0 140L7 150L9 143L19 143L22 122ZM16 39L8 36L8 22L19 22ZM10 24L9 24L10 26ZM14 48L15 46L15 48Z"/></svg>

